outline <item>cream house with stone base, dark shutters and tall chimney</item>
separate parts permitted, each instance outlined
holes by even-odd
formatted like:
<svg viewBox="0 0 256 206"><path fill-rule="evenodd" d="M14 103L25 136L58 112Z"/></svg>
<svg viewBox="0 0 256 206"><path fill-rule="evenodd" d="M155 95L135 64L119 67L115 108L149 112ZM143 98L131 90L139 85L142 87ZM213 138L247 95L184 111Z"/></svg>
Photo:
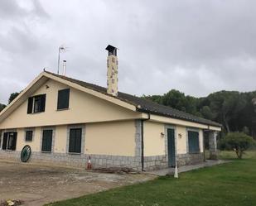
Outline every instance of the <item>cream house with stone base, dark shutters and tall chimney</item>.
<svg viewBox="0 0 256 206"><path fill-rule="evenodd" d="M221 125L118 92L118 59L108 55L108 86L43 71L0 113L0 158L85 167L156 170L204 160L203 132L216 152Z"/></svg>

